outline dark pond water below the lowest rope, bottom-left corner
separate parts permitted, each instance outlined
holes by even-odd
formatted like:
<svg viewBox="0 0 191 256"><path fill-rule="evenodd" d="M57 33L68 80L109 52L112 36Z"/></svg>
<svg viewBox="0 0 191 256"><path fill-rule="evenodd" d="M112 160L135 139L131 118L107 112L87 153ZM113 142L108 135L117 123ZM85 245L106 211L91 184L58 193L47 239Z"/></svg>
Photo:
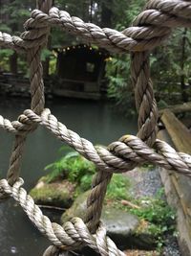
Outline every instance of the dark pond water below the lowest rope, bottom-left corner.
<svg viewBox="0 0 191 256"><path fill-rule="evenodd" d="M42 255L48 244L13 199L1 203L0 255Z"/></svg>

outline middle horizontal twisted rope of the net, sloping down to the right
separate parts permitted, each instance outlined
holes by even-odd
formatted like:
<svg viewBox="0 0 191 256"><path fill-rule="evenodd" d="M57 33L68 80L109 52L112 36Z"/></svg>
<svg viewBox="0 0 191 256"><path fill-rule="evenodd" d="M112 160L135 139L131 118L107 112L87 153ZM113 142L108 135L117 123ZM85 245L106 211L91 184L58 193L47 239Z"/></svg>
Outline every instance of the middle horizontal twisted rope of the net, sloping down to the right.
<svg viewBox="0 0 191 256"><path fill-rule="evenodd" d="M0 121L2 120L4 119L0 116ZM13 130L13 133L17 130L20 132L20 129L22 130L24 127L27 128L28 124L39 124L48 128L56 138L67 143L75 151L94 162L98 169L107 173L124 173L138 164L148 162L180 174L191 175L191 156L176 152L167 143L159 140L154 144L155 150L133 135L125 135L107 148L95 147L90 141L81 138L73 130L58 122L48 108L42 112L41 116L36 115L31 109L27 109L18 120L9 123L9 130ZM12 129L13 126L15 129ZM0 127L2 127L1 122ZM8 124L5 129L8 130Z"/></svg>

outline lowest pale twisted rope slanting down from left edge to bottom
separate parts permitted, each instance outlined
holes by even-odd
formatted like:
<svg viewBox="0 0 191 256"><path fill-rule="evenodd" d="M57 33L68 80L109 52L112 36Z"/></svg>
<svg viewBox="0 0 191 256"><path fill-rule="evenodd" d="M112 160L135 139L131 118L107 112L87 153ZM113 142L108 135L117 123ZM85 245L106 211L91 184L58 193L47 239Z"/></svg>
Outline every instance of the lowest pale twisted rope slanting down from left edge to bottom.
<svg viewBox="0 0 191 256"><path fill-rule="evenodd" d="M27 195L27 192L21 187L23 183L23 179L19 178L11 187L6 179L2 179L0 180L0 189L21 205L30 220L55 246L62 250L68 250L83 244L92 247L103 256L124 256L124 253L117 249L116 244L106 236L106 230L101 223L96 235L92 235L79 218L74 218L63 226L52 223L34 204L32 197Z"/></svg>

